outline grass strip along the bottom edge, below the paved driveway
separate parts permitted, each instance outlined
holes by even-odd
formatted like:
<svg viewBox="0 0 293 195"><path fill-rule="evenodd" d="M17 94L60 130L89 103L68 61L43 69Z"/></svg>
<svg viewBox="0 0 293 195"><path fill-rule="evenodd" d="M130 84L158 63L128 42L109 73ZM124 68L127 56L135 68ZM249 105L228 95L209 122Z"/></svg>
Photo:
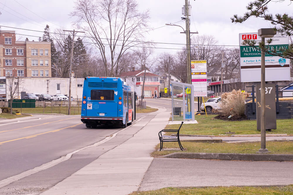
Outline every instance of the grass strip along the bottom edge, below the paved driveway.
<svg viewBox="0 0 293 195"><path fill-rule="evenodd" d="M135 191L131 195L160 195L160 194L292 194L293 185L283 187L167 187L152 191Z"/></svg>

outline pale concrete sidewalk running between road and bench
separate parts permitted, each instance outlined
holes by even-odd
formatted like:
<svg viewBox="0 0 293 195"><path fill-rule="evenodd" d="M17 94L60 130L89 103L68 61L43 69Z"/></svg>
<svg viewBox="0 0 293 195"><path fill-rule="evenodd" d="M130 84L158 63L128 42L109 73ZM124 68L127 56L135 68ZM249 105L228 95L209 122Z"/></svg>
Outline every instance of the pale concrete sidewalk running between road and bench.
<svg viewBox="0 0 293 195"><path fill-rule="evenodd" d="M112 141L137 133L42 194L129 194L137 191L153 161L150 153L159 143L158 132L168 124L169 117L166 109L159 109L119 131Z"/></svg>

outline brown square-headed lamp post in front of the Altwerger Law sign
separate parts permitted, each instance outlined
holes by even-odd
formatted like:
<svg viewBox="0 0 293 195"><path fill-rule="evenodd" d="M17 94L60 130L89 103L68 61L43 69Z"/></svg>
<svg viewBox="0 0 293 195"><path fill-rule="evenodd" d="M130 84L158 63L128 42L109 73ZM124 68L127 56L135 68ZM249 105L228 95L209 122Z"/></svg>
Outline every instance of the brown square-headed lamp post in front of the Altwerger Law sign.
<svg viewBox="0 0 293 195"><path fill-rule="evenodd" d="M258 29L258 36L261 37L261 42L265 46L265 37L274 37L276 31L272 28ZM268 149L265 146L265 51L261 50L261 80L260 80L260 101L261 101L261 116L260 116L260 146L258 150L262 153L267 153Z"/></svg>

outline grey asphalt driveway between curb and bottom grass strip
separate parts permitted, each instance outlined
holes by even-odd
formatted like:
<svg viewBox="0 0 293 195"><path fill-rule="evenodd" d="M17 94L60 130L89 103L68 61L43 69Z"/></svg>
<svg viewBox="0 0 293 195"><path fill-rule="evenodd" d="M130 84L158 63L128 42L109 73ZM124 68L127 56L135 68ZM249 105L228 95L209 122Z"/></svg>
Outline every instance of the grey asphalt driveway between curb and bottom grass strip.
<svg viewBox="0 0 293 195"><path fill-rule="evenodd" d="M293 162L154 158L140 191L163 187L292 184Z"/></svg>

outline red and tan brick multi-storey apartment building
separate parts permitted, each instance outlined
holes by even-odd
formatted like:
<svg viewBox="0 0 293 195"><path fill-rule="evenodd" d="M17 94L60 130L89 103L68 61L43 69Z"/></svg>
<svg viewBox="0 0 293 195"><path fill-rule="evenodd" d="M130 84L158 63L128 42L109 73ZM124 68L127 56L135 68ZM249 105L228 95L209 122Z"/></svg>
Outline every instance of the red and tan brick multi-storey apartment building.
<svg viewBox="0 0 293 195"><path fill-rule="evenodd" d="M0 31L0 76L51 77L51 42L16 41L15 31Z"/></svg>

